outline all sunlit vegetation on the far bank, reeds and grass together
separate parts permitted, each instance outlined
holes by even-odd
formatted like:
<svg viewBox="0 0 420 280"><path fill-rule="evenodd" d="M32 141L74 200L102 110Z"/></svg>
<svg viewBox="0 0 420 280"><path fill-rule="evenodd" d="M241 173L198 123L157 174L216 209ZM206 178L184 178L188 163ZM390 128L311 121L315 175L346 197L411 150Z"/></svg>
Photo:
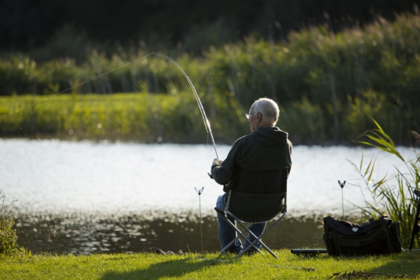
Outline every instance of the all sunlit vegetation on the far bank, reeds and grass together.
<svg viewBox="0 0 420 280"><path fill-rule="evenodd" d="M0 136L202 142L193 92L176 66L151 55L160 51L193 81L216 141L248 133L244 113L255 99L270 97L294 144L351 144L369 129L368 116L396 144L413 144L419 38L420 15L401 14L337 33L327 25L304 28L275 43L252 35L200 56L146 45L93 51L81 63L13 55L0 59Z"/></svg>

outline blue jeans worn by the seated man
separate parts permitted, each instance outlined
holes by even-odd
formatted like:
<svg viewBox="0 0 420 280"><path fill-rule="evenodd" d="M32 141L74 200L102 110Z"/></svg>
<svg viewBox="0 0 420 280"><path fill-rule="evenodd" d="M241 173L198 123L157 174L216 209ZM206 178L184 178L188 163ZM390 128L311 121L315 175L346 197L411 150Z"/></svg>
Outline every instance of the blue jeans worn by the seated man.
<svg viewBox="0 0 420 280"><path fill-rule="evenodd" d="M225 209L225 203L223 202L224 197L225 195L221 195L218 197L217 202L216 202L216 207ZM220 215L217 215L217 219L218 219L219 240L221 241L221 247L225 248L225 246L227 246L233 239L237 237L237 232L235 229L232 228L231 225L229 225L225 220L223 220L223 218ZM236 225L234 218L232 218L231 216L228 216L228 219L234 225ZM258 237L262 234L262 232L264 231L264 228L265 228L265 223L255 223L255 225L251 227L251 232L253 232L253 234ZM241 240L238 239L235 242L235 244L230 246L228 251L231 253L239 253L240 251L242 251L243 248L248 247L254 240L255 239L253 237L248 235L248 237L244 241L244 246L242 246ZM255 246L257 248L260 248L261 244L257 243L255 244ZM250 250L252 250L252 248Z"/></svg>

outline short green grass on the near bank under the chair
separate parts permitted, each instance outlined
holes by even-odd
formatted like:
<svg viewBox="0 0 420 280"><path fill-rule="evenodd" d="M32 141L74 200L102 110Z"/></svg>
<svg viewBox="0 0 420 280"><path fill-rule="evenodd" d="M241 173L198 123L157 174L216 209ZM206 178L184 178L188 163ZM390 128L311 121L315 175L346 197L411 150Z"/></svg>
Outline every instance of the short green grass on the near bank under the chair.
<svg viewBox="0 0 420 280"><path fill-rule="evenodd" d="M350 272L351 279L367 274L420 279L420 252L356 258L294 255L286 249L275 252L279 259L268 253L239 260L232 255L218 258L216 253L0 257L0 279L349 279L339 277Z"/></svg>

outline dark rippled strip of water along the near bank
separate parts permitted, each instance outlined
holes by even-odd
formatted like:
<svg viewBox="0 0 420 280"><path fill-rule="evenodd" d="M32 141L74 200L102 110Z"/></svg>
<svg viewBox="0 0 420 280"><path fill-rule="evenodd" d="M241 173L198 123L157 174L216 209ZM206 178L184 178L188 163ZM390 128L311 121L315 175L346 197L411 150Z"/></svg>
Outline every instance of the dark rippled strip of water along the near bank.
<svg viewBox="0 0 420 280"><path fill-rule="evenodd" d="M200 221L194 214L153 212L125 216L22 214L18 243L32 253L91 254L164 251L201 252ZM265 238L270 248L323 248L322 218L289 217ZM218 251L216 215L202 217L203 249Z"/></svg>

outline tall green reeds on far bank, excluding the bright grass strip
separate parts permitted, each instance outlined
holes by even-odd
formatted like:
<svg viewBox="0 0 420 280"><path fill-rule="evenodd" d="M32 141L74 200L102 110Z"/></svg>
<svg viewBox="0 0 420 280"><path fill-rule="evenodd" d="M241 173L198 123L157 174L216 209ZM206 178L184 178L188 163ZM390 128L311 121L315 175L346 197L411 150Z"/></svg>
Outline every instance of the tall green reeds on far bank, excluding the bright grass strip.
<svg viewBox="0 0 420 280"><path fill-rule="evenodd" d="M407 131L420 126L419 38L420 15L398 15L395 22L379 18L363 29L337 33L325 26L302 28L276 43L248 36L238 43L215 44L202 56L179 50L164 54L188 73L205 109L218 104L209 113L216 127L221 124L214 113L225 105L247 110L255 99L269 97L283 108L284 123L279 126L296 144L353 139L369 128L367 114L386 127L395 143L411 144ZM144 44L114 54L94 50L78 63L74 59L41 63L22 55L0 59L0 94L68 92L147 92L174 102L176 94L190 92L190 87L174 64L153 55ZM235 113L226 116L229 122L235 122L232 116ZM26 127L34 127L31 122ZM236 122L235 130L246 127L242 120ZM15 134L10 129L10 124L3 125L4 132Z"/></svg>

